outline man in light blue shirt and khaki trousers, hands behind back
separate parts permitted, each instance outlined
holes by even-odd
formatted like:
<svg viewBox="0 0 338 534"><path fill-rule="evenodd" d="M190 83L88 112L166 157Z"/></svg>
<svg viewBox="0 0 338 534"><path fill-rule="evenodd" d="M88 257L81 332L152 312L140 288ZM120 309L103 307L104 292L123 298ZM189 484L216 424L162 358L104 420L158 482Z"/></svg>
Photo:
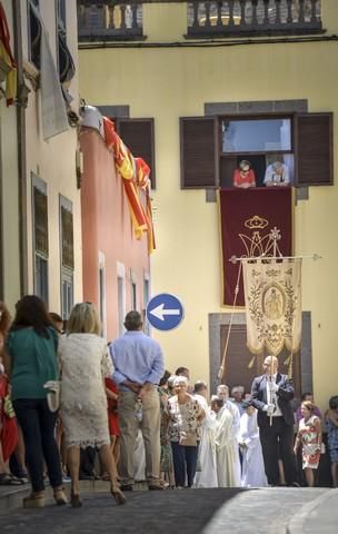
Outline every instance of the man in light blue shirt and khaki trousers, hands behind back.
<svg viewBox="0 0 338 534"><path fill-rule="evenodd" d="M119 388L121 488L123 491L133 488L133 452L140 425L145 441L148 487L162 490L160 485L161 415L157 385L165 374L163 355L159 343L142 333L142 318L138 312L129 312L126 315L125 327L126 334L109 346L115 366L112 379Z"/></svg>

